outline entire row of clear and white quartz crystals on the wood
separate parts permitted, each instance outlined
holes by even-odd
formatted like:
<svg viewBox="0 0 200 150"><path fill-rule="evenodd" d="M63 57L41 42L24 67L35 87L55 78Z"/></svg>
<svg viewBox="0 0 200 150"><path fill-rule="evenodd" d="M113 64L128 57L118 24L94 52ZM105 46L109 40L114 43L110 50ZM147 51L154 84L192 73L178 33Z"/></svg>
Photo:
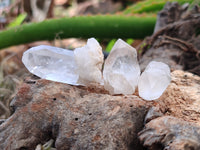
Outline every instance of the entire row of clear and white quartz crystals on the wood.
<svg viewBox="0 0 200 150"><path fill-rule="evenodd" d="M162 62L150 62L140 76L137 51L121 39L113 46L103 69L102 48L94 38L74 51L32 47L24 52L22 62L43 79L85 86L98 83L110 94L134 94L138 87L139 96L145 100L159 98L171 81L170 69Z"/></svg>

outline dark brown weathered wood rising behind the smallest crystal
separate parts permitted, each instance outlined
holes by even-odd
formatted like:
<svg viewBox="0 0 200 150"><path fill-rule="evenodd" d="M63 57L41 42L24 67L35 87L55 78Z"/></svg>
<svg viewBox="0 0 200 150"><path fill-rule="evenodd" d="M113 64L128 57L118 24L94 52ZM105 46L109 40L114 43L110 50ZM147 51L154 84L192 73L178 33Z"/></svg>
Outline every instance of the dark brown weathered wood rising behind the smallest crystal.
<svg viewBox="0 0 200 150"><path fill-rule="evenodd" d="M183 69L200 75L200 8L192 10L167 3L159 12L154 34L142 47L142 70L152 60L162 61L172 70Z"/></svg>

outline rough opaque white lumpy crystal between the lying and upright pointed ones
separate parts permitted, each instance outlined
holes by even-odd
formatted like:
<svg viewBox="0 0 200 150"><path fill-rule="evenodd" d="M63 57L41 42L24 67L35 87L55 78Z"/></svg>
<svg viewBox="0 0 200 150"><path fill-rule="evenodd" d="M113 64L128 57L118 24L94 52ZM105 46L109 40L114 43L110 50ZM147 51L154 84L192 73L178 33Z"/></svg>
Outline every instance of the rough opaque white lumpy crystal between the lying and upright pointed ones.
<svg viewBox="0 0 200 150"><path fill-rule="evenodd" d="M102 65L104 61L102 48L94 38L87 41L87 45L74 50L78 66L80 84L103 83Z"/></svg>

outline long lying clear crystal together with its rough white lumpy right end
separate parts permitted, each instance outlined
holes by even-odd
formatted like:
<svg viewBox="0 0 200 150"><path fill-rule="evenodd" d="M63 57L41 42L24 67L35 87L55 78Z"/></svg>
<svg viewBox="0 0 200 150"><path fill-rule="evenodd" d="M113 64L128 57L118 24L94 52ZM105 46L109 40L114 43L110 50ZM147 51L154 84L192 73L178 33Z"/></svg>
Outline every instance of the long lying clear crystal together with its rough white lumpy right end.
<svg viewBox="0 0 200 150"><path fill-rule="evenodd" d="M74 51L45 45L32 47L24 52L22 62L43 79L72 85L103 83L102 48L94 38Z"/></svg>

